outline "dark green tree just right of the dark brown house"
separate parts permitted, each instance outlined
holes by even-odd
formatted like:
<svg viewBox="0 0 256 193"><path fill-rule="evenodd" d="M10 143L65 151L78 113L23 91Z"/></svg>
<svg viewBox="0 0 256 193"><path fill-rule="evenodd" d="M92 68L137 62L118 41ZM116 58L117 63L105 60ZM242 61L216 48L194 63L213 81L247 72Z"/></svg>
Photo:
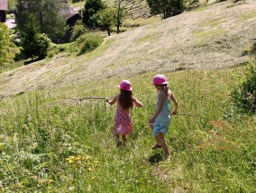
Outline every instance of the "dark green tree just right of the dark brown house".
<svg viewBox="0 0 256 193"><path fill-rule="evenodd" d="M83 23L90 29L95 29L97 23L94 19L94 14L105 9L105 4L102 0L87 0L83 10Z"/></svg>

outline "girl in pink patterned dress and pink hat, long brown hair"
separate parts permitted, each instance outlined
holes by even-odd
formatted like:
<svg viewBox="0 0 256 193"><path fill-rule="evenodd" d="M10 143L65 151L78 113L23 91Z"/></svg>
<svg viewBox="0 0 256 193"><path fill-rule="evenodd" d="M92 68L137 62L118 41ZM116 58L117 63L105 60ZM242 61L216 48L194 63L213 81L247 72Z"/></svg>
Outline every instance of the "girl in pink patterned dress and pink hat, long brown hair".
<svg viewBox="0 0 256 193"><path fill-rule="evenodd" d="M117 109L114 118L114 137L117 147L126 142L127 136L133 132L133 122L130 115L130 110L133 106L142 107L142 102L133 97L131 83L123 80L120 85L120 93L113 100L105 98L105 101L113 105L117 101ZM123 136L123 143L119 136Z"/></svg>

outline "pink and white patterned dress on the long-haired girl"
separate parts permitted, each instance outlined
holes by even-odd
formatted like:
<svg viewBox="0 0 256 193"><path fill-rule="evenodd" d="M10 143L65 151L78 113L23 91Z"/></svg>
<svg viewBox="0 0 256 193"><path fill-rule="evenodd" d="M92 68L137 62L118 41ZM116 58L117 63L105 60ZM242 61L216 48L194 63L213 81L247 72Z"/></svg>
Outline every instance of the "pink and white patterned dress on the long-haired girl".
<svg viewBox="0 0 256 193"><path fill-rule="evenodd" d="M114 134L115 135L130 135L133 132L133 122L130 115L130 110L123 110L119 101L117 101L117 109L114 118Z"/></svg>

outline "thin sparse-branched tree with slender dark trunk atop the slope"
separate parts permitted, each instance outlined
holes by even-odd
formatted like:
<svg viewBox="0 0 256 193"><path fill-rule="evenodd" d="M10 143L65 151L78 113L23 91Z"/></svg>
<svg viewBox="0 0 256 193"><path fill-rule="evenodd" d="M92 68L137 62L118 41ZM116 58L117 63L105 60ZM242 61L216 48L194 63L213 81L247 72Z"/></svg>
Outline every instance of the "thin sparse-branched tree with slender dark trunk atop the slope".
<svg viewBox="0 0 256 193"><path fill-rule="evenodd" d="M129 11L133 9L135 1L128 0L117 0L114 5L114 25L116 26L116 32L120 32L120 27L122 26L126 16Z"/></svg>

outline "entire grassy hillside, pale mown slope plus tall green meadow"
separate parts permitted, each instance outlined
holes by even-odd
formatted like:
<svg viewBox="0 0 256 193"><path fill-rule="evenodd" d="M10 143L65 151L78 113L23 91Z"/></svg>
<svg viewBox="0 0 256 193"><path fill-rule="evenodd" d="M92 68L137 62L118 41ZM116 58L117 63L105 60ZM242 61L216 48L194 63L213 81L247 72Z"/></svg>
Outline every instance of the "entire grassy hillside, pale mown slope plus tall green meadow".
<svg viewBox="0 0 256 193"><path fill-rule="evenodd" d="M255 51L255 13L254 1L212 4L1 73L0 192L255 192L256 116L230 97ZM148 127L159 73L178 99L170 161ZM144 107L117 149L115 106L73 98L114 97L126 78Z"/></svg>

